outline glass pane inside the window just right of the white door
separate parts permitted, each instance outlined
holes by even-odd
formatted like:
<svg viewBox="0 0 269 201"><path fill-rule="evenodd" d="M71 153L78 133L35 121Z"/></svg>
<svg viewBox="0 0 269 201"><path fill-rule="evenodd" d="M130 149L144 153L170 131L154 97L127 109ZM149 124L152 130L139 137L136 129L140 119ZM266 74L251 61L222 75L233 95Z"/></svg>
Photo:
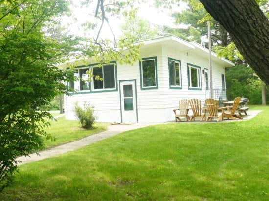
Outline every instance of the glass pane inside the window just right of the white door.
<svg viewBox="0 0 269 201"><path fill-rule="evenodd" d="M156 86L155 60L142 61L143 86Z"/></svg>

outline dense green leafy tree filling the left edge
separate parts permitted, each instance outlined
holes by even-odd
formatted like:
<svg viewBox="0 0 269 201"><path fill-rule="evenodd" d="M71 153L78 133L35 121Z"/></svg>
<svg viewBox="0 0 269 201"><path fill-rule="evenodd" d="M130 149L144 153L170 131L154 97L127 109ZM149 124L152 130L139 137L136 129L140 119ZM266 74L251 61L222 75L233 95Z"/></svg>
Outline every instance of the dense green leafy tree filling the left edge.
<svg viewBox="0 0 269 201"><path fill-rule="evenodd" d="M12 181L18 156L43 148L49 113L37 111L68 94L73 77L56 65L77 51L78 39L53 34L66 0L0 1L0 192ZM45 32L46 30L46 32Z"/></svg>

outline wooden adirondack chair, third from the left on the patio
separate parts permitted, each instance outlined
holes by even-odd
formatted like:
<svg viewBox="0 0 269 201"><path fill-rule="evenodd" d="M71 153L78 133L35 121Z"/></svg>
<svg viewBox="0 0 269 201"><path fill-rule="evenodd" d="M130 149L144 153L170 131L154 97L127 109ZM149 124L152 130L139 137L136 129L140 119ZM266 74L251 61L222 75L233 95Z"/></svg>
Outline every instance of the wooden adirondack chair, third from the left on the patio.
<svg viewBox="0 0 269 201"><path fill-rule="evenodd" d="M217 119L217 122L219 122L220 119L223 120L223 112L224 112L225 107L218 107L218 101L217 101L217 100L214 100L214 99L212 99L212 98L210 98L210 99L206 99L206 100L205 100L205 104L206 104L206 106L207 106L207 110L208 110L208 112L209 112L209 115L208 115L208 117L206 118L206 122L208 122L209 119L211 119L211 121L212 121L212 119L213 119L214 117L217 117L217 118L218 118L218 119ZM219 109L222 110L221 113L218 112Z"/></svg>

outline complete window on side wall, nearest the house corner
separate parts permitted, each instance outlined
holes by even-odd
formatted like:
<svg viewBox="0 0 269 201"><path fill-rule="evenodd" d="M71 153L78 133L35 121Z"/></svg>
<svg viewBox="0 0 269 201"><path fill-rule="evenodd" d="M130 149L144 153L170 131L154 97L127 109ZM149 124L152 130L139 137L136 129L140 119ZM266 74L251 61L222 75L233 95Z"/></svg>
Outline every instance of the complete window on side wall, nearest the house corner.
<svg viewBox="0 0 269 201"><path fill-rule="evenodd" d="M168 58L170 88L181 87L181 63L179 60Z"/></svg>

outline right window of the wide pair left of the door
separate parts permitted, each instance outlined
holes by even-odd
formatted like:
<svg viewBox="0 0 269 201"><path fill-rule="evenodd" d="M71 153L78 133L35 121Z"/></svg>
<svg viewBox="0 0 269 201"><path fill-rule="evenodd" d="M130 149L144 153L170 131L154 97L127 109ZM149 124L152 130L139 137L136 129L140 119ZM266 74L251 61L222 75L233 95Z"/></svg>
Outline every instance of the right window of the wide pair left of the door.
<svg viewBox="0 0 269 201"><path fill-rule="evenodd" d="M94 90L115 88L116 83L114 64L104 65L102 67L94 67L92 69Z"/></svg>

